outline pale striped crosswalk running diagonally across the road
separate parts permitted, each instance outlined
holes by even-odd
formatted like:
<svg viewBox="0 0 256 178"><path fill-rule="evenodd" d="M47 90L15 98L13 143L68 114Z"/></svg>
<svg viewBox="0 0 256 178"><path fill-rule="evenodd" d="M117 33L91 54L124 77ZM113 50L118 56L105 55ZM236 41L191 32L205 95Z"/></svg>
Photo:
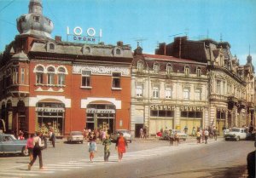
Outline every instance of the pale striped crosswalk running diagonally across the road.
<svg viewBox="0 0 256 178"><path fill-rule="evenodd" d="M181 150L187 146L161 146L153 149L142 150L137 152L126 152L124 155L122 163L129 163L134 161L142 161L151 159L154 157L159 157L166 153L171 153L170 151ZM82 169L86 167L94 166L106 166L109 164L119 164L118 155L116 152L112 152L109 158L109 162L104 162L102 156L94 158L91 163L89 158L81 158L78 160L72 160L67 162L56 162L51 164L44 164L44 169L40 170L38 167L38 161L32 166L32 170L27 170L27 164L14 164L10 160L0 162L0 178L26 178L26 177L37 177L43 176L50 177L51 174L55 172L64 172L72 169Z"/></svg>

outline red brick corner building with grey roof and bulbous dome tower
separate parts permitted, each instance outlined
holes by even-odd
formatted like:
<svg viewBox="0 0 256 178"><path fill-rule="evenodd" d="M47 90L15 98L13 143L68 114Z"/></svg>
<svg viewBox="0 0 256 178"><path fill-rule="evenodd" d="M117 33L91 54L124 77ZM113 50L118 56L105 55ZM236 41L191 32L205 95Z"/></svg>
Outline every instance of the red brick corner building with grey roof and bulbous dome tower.
<svg viewBox="0 0 256 178"><path fill-rule="evenodd" d="M131 47L52 39L42 10L41 0L30 1L17 19L20 34L0 56L2 129L129 129Z"/></svg>

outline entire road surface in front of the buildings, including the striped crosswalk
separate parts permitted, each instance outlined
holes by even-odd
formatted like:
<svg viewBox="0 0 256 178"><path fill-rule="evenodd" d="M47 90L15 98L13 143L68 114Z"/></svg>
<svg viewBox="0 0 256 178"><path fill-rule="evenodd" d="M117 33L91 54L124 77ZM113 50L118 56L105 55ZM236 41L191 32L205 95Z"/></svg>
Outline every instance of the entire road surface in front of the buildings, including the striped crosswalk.
<svg viewBox="0 0 256 178"><path fill-rule="evenodd" d="M110 161L103 161L97 145L94 163L89 161L88 146L59 143L44 150L44 170L38 160L27 171L28 158L1 156L2 177L84 177L84 178L239 178L244 177L246 157L254 150L253 141L210 141L196 144L185 141L169 146L167 141L133 141L122 162L112 145Z"/></svg>

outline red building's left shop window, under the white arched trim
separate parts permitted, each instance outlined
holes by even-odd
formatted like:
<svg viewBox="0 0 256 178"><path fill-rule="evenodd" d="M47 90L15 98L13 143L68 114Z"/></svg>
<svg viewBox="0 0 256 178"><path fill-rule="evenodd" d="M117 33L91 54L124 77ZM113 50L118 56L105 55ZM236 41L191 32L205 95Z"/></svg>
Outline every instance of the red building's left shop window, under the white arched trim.
<svg viewBox="0 0 256 178"><path fill-rule="evenodd" d="M49 129L55 130L55 135L64 134L65 106L63 103L38 102L36 106L36 130L48 134Z"/></svg>

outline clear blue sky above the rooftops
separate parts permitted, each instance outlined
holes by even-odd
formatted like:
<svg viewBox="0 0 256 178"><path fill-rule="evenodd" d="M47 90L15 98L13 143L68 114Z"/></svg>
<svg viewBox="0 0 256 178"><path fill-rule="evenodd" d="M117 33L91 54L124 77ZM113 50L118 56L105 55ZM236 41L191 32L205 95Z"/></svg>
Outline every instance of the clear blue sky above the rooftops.
<svg viewBox="0 0 256 178"><path fill-rule="evenodd" d="M174 37L190 40L212 38L229 42L231 54L241 65L247 55L256 66L256 0L42 0L43 14L54 23L52 37L67 41L70 32L80 26L102 29L101 41L118 41L154 54L158 43L172 43ZM16 19L28 13L29 0L0 0L0 51L19 34Z"/></svg>

